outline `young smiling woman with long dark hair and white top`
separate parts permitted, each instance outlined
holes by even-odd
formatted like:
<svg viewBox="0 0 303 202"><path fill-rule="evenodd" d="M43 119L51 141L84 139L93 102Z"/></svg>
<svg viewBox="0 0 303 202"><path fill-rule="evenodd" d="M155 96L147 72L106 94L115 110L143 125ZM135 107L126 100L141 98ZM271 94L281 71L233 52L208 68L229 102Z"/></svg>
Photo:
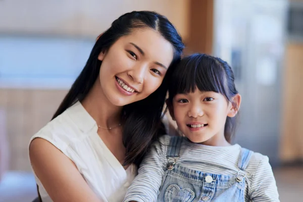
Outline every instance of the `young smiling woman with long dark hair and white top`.
<svg viewBox="0 0 303 202"><path fill-rule="evenodd" d="M184 44L162 15L122 15L100 35L53 120L30 141L44 201L122 201L161 134L168 81Z"/></svg>

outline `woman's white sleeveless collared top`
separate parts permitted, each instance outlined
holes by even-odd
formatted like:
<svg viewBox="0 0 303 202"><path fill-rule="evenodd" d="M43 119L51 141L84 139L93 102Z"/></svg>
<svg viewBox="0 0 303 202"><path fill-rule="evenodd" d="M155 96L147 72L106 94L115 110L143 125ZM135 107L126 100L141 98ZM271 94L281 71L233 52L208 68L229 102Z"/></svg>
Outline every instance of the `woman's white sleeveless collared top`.
<svg viewBox="0 0 303 202"><path fill-rule="evenodd" d="M135 165L126 170L97 134L97 125L80 102L49 122L30 141L43 138L62 151L102 201L121 202L137 174ZM35 175L43 202L53 201Z"/></svg>

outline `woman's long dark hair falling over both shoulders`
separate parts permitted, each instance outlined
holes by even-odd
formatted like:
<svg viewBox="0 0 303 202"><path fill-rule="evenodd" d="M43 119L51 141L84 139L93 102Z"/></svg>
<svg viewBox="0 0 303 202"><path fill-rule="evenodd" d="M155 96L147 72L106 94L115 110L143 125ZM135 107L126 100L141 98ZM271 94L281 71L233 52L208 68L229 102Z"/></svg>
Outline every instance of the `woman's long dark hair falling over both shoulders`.
<svg viewBox="0 0 303 202"><path fill-rule="evenodd" d="M87 63L65 96L54 118L62 114L78 100L81 102L92 88L99 75L102 61L97 59L102 51L107 51L121 36L135 29L157 30L174 50L173 61L161 86L148 97L123 107L123 143L126 147L125 165L139 164L151 141L165 131L161 121L162 110L168 89L168 80L176 64L180 61L184 48L181 36L172 23L164 16L149 11L133 11L120 16L112 26L99 36L92 48Z"/></svg>

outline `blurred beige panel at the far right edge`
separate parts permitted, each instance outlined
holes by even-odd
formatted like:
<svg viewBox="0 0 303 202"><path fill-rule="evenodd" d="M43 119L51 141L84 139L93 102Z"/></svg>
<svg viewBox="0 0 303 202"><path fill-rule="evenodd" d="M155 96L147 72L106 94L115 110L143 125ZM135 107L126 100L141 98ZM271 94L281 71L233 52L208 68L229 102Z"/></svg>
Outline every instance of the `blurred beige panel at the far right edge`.
<svg viewBox="0 0 303 202"><path fill-rule="evenodd" d="M283 73L281 158L303 160L303 43L286 46Z"/></svg>

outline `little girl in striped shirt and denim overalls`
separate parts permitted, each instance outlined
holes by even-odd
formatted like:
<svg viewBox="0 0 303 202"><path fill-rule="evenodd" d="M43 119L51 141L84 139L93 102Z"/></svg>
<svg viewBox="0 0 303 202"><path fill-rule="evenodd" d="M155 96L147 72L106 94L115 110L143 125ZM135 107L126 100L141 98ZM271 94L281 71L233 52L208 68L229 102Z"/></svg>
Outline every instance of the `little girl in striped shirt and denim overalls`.
<svg viewBox="0 0 303 202"><path fill-rule="evenodd" d="M279 201L269 159L230 144L241 96L231 67L195 54L174 71L167 105L185 136L162 136L124 201Z"/></svg>

